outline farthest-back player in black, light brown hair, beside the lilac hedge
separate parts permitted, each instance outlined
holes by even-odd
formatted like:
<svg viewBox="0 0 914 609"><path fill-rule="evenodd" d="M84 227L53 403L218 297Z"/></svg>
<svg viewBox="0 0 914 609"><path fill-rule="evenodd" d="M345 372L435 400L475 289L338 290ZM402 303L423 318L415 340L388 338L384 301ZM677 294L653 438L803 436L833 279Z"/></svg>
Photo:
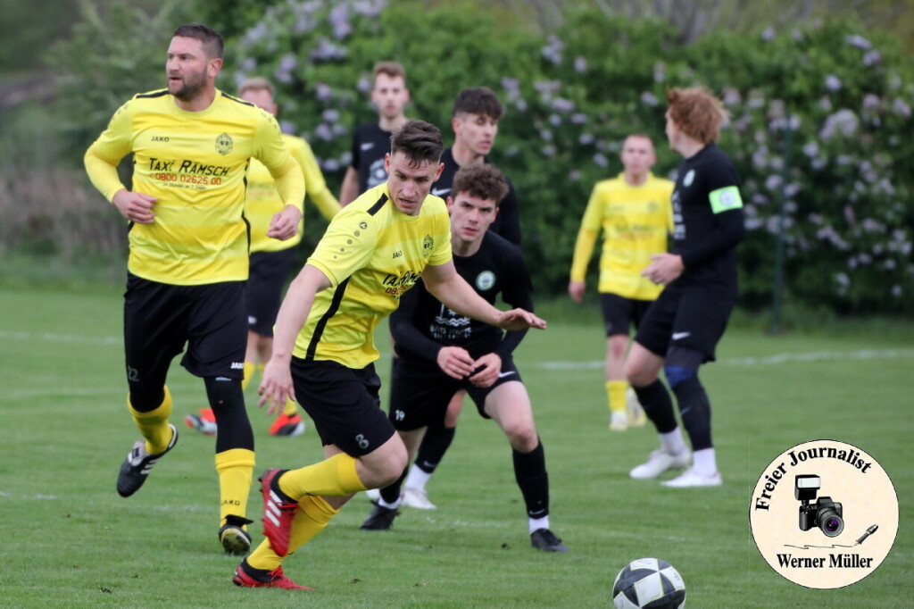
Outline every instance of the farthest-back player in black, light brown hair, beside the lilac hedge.
<svg viewBox="0 0 914 609"><path fill-rule="evenodd" d="M348 205L368 188L387 182L384 154L390 150L390 135L406 123L403 113L409 102L406 70L396 61L378 61L374 79L371 102L377 106L377 123L356 126L352 161L340 187L340 205Z"/></svg>

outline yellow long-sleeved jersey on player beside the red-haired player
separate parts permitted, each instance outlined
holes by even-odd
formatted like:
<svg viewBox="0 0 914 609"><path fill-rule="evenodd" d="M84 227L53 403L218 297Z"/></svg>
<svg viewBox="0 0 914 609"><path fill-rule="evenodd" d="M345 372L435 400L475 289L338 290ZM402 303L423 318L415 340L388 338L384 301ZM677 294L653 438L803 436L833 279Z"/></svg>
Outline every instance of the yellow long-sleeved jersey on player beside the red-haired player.
<svg viewBox="0 0 914 609"><path fill-rule="evenodd" d="M571 262L571 281L583 281L590 255L600 230L602 293L625 298L654 300L663 290L641 276L651 255L666 251L667 236L673 230L670 198L674 183L648 173L643 184L632 186L625 175L602 180L593 187L580 223Z"/></svg>

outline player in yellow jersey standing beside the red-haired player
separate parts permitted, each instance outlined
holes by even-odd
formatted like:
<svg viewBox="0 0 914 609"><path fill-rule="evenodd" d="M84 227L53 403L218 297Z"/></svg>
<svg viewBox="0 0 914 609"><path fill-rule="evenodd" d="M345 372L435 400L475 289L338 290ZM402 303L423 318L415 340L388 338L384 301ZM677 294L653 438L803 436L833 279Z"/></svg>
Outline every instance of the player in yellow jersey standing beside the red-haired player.
<svg viewBox="0 0 914 609"><path fill-rule="evenodd" d="M637 400L627 397L624 366L629 326L638 326L663 289L641 272L651 263L652 254L666 251L667 236L673 229L673 182L651 173L655 161L650 137L632 134L625 138L622 174L593 187L571 262L569 295L579 303L584 298L590 255L602 230L598 289L606 326L606 394L613 431L643 425L645 419Z"/></svg>

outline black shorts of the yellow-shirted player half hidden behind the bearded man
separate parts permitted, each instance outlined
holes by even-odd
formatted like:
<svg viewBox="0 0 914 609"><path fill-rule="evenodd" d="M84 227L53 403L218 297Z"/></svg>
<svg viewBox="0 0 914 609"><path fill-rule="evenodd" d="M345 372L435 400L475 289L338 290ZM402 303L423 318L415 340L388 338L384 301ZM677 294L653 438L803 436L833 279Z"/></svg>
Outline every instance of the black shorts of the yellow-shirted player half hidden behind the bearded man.
<svg viewBox="0 0 914 609"><path fill-rule="evenodd" d="M273 336L273 324L280 311L282 287L295 262L293 248L255 251L250 254L248 277L248 327L261 337Z"/></svg>

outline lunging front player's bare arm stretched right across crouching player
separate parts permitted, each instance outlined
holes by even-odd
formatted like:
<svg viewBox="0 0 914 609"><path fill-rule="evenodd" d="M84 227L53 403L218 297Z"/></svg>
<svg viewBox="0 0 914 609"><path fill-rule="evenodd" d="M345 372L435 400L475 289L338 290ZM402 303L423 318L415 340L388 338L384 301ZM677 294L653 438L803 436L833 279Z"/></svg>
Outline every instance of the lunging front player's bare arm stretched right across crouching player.
<svg viewBox="0 0 914 609"><path fill-rule="evenodd" d="M454 269L453 261L430 264L422 272L422 281L431 295L452 311L473 317L477 321L499 326L505 330L523 330L527 327L543 329L546 322L524 309L499 311L476 294L469 283Z"/></svg>

